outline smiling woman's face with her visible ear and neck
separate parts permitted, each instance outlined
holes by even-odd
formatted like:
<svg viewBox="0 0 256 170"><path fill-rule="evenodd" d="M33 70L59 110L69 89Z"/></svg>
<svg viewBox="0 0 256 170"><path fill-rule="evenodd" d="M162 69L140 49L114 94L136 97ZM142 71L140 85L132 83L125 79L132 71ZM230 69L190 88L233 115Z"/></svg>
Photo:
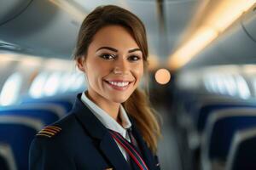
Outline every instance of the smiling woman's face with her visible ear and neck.
<svg viewBox="0 0 256 170"><path fill-rule="evenodd" d="M114 119L119 104L131 96L143 77L143 54L122 26L97 31L87 57L79 58L78 65L88 79L90 98Z"/></svg>

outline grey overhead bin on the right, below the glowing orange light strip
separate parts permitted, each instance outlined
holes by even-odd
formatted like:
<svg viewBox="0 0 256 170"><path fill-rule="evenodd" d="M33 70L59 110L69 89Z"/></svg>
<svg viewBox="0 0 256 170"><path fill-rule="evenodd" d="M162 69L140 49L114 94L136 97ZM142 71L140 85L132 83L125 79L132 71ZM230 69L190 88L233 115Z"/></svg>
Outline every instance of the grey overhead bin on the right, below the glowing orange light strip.
<svg viewBox="0 0 256 170"><path fill-rule="evenodd" d="M197 54L184 69L206 65L256 64L256 4Z"/></svg>

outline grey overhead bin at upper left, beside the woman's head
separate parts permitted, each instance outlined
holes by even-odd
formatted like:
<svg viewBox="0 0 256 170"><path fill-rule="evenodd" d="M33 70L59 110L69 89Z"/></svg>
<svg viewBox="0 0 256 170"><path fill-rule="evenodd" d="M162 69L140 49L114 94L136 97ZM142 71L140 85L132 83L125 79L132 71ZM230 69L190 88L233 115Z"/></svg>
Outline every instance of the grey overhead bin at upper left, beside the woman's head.
<svg viewBox="0 0 256 170"><path fill-rule="evenodd" d="M1 2L0 50L70 58L85 14L79 18L61 3L67 1Z"/></svg>

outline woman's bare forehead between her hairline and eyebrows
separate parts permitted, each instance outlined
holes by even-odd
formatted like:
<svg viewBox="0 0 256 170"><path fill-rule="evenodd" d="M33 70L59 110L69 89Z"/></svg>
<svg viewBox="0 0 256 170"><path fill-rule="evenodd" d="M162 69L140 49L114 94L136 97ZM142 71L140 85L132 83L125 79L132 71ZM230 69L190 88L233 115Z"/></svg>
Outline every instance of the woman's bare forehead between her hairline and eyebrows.
<svg viewBox="0 0 256 170"><path fill-rule="evenodd" d="M138 48L137 42L131 33L123 26L104 26L96 32L90 44L92 48L110 46L113 48Z"/></svg>

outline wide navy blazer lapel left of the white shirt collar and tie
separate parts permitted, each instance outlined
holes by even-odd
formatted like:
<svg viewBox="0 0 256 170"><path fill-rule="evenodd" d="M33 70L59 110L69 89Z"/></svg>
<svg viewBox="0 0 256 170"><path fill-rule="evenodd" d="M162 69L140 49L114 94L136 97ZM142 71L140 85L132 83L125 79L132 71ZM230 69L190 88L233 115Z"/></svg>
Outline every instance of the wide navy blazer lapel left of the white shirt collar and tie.
<svg viewBox="0 0 256 170"><path fill-rule="evenodd" d="M79 119L85 131L90 134L93 139L100 140L99 149L103 155L110 161L114 169L129 170L129 165L119 150L118 145L113 140L108 129L103 126L96 116L87 108L80 100L81 94L78 95L73 105L73 113Z"/></svg>

